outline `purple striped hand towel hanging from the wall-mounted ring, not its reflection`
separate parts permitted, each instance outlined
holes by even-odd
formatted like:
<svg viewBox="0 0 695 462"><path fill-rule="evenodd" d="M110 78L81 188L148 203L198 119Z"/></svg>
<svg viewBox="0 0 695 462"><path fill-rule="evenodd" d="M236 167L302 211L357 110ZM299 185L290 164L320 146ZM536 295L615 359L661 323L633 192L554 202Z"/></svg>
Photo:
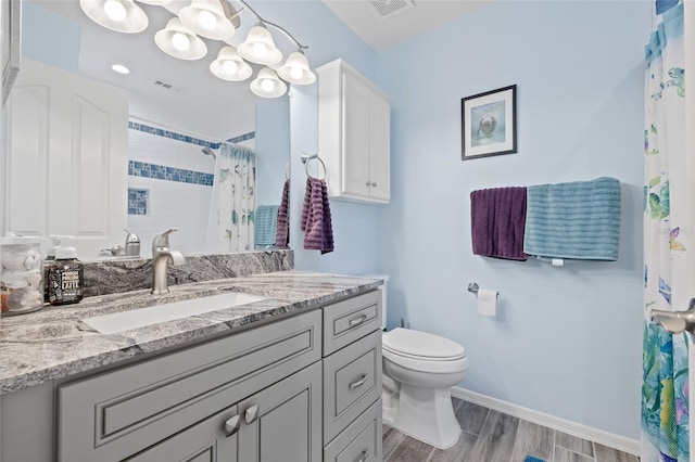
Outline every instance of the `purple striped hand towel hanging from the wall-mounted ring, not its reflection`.
<svg viewBox="0 0 695 462"><path fill-rule="evenodd" d="M306 179L304 207L302 209L302 231L304 248L333 252L333 228L328 202L326 181L318 178Z"/></svg>

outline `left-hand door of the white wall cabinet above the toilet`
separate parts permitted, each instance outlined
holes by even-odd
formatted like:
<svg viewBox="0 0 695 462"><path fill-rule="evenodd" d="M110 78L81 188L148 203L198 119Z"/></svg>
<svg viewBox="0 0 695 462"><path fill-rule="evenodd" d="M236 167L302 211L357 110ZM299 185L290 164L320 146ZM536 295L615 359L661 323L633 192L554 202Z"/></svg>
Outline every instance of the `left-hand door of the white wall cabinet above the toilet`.
<svg viewBox="0 0 695 462"><path fill-rule="evenodd" d="M369 88L350 73L343 74L344 193L369 195Z"/></svg>

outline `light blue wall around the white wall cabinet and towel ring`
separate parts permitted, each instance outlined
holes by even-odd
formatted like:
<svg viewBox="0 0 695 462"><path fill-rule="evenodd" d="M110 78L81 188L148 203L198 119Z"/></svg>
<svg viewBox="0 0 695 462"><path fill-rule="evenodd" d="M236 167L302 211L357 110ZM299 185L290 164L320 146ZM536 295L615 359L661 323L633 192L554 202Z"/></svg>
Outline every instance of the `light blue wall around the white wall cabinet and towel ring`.
<svg viewBox="0 0 695 462"><path fill-rule="evenodd" d="M377 53L367 47L320 1L254 2L262 16L287 27L305 50L312 66L342 57L371 79L376 79ZM267 13L266 13L267 12ZM294 87L290 95L292 188L290 241L295 251L295 268L323 272L363 274L377 269L378 214L382 207L331 201L336 251L320 255L304 251L300 229L306 174L300 155L314 154L318 146L318 85Z"/></svg>

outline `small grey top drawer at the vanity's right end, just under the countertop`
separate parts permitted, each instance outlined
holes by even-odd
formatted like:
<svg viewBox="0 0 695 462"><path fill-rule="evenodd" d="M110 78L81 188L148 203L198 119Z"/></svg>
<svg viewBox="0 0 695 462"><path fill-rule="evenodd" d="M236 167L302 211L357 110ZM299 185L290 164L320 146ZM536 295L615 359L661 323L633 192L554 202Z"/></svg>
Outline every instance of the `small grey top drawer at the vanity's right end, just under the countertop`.
<svg viewBox="0 0 695 462"><path fill-rule="evenodd" d="M324 356L381 329L381 291L324 307Z"/></svg>

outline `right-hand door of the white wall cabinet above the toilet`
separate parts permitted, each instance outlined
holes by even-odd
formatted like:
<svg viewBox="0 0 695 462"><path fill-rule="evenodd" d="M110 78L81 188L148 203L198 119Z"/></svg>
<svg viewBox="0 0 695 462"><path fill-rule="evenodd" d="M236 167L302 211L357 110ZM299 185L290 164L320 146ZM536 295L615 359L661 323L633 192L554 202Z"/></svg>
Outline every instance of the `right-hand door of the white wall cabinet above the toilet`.
<svg viewBox="0 0 695 462"><path fill-rule="evenodd" d="M369 196L391 197L391 104L377 93L369 100Z"/></svg>

